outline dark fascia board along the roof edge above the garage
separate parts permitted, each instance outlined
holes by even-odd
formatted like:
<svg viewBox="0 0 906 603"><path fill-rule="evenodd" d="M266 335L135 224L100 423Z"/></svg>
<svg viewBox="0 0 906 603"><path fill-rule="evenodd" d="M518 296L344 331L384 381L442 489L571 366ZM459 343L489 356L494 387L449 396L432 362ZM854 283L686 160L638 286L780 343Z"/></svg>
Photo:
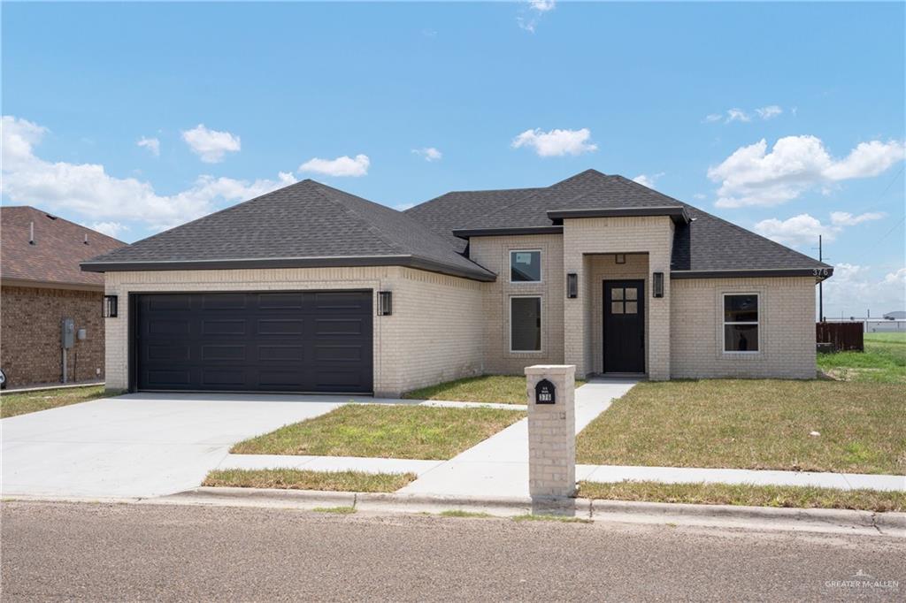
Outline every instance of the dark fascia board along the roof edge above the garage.
<svg viewBox="0 0 906 603"><path fill-rule="evenodd" d="M405 266L432 273L448 274L473 281L493 282L496 274L458 268L414 255L350 255L296 258L248 258L229 260L170 260L165 262L82 262L89 273L142 272L160 270L231 270L255 268L339 268L361 266Z"/></svg>

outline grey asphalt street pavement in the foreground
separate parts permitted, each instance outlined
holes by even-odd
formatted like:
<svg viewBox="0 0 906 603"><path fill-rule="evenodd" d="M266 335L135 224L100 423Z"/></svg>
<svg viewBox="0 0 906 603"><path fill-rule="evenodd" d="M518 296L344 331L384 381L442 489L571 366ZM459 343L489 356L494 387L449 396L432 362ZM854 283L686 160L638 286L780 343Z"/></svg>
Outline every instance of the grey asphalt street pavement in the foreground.
<svg viewBox="0 0 906 603"><path fill-rule="evenodd" d="M5 502L3 600L902 600L906 541Z"/></svg>

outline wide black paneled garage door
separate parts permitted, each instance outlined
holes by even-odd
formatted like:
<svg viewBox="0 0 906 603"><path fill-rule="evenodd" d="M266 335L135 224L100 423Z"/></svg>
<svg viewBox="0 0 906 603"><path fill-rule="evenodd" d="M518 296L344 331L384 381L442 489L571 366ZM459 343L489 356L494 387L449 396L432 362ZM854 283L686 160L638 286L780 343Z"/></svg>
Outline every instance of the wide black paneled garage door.
<svg viewBox="0 0 906 603"><path fill-rule="evenodd" d="M139 294L135 384L371 392L371 299L371 292Z"/></svg>

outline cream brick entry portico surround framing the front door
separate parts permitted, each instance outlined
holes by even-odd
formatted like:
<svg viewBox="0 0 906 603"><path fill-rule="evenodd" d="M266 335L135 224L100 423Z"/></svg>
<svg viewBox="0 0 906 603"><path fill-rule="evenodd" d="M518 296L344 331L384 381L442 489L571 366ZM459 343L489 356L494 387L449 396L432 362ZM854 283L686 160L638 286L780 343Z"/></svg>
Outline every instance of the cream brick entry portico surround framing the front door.
<svg viewBox="0 0 906 603"><path fill-rule="evenodd" d="M564 273L579 275L579 297L566 300L564 362L574 364L580 378L593 372L594 282L593 257L588 254L648 254L646 279L664 273L664 297L646 291L648 377L670 378L670 253L673 223L667 216L581 218L564 220ZM600 293L599 293L600 294Z"/></svg>

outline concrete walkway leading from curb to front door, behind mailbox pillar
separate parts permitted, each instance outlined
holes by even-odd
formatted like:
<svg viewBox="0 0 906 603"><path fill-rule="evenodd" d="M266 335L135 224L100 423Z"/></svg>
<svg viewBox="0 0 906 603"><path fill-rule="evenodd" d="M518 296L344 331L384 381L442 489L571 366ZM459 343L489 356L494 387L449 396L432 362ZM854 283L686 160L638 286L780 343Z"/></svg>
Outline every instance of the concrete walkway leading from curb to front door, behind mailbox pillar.
<svg viewBox="0 0 906 603"><path fill-rule="evenodd" d="M578 434L612 401L636 384L631 378L596 378L575 390ZM528 496L528 419L421 474L400 493Z"/></svg>

